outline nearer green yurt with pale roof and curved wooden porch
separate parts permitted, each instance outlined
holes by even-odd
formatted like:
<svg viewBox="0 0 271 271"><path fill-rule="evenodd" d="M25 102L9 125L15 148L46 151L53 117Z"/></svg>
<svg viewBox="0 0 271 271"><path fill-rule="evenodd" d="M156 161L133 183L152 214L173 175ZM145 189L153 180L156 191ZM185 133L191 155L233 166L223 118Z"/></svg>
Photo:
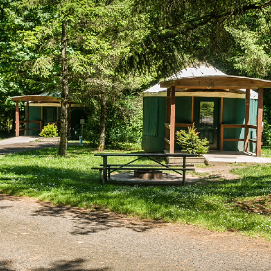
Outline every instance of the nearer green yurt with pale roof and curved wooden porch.
<svg viewBox="0 0 271 271"><path fill-rule="evenodd" d="M260 156L263 88L271 81L188 67L143 92L142 149L179 151L175 133L195 125L209 150ZM256 90L256 91L255 91Z"/></svg>

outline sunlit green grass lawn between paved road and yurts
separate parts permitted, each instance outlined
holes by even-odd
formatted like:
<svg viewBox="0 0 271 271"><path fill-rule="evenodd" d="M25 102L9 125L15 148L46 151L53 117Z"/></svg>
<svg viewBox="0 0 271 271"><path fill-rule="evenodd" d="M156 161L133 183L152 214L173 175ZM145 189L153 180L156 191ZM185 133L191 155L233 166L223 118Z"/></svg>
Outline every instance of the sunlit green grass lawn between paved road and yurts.
<svg viewBox="0 0 271 271"><path fill-rule="evenodd" d="M58 157L57 148L0 156L0 191L54 204L98 206L142 218L238 231L271 240L270 213L248 212L242 205L271 193L270 166L233 169L240 179L210 181L207 185L101 185L98 172L90 169L101 163L101 158L93 157L93 153L85 146L72 146L67 157ZM111 157L109 162L110 159L118 164L129 157Z"/></svg>

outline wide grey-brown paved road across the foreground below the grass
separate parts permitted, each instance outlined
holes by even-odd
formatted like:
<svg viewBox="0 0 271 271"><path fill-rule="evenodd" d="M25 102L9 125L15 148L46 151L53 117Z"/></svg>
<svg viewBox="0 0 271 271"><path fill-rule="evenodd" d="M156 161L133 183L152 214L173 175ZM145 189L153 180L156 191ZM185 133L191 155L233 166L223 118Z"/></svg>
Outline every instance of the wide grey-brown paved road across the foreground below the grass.
<svg viewBox="0 0 271 271"><path fill-rule="evenodd" d="M0 195L1 271L271 270L271 243Z"/></svg>

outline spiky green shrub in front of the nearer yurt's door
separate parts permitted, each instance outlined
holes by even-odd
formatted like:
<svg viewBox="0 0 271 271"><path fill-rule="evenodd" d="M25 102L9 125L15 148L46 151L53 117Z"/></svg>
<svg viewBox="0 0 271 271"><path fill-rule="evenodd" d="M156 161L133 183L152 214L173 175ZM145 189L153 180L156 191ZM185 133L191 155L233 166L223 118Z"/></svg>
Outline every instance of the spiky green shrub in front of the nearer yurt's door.
<svg viewBox="0 0 271 271"><path fill-rule="evenodd" d="M199 138L199 132L196 131L195 126L188 127L188 131L181 130L176 132L177 144L179 144L182 150L188 154L195 154L201 156L201 154L207 154L207 144L209 141Z"/></svg>

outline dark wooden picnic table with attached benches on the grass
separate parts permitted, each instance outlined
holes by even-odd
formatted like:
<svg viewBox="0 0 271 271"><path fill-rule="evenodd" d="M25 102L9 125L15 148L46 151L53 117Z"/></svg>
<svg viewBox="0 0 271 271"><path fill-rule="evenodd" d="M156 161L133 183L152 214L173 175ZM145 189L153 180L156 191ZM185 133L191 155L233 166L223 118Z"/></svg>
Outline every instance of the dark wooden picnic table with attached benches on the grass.
<svg viewBox="0 0 271 271"><path fill-rule="evenodd" d="M100 164L99 167L92 167L93 170L99 170L100 172L100 181L102 184L106 183L108 180L110 180L111 173L117 170L169 170L174 171L176 173L179 173L182 175L182 186L185 185L185 172L187 170L194 170L193 168L187 168L187 167L193 167L194 165L187 165L186 164L186 157L192 157L195 156L194 154L157 154L157 153L97 153L94 154L94 156L101 156L103 158L103 164ZM126 163L126 164L108 164L107 163L107 157L116 157L116 156L128 156L128 157L137 157L136 159ZM160 161L154 159L154 157L182 157L183 162L182 166L176 166L176 165L169 165L169 164L162 164ZM142 159L147 158L151 161L154 161L157 164L154 165L138 165L138 164L132 164L133 162ZM181 172L180 172L181 171Z"/></svg>

